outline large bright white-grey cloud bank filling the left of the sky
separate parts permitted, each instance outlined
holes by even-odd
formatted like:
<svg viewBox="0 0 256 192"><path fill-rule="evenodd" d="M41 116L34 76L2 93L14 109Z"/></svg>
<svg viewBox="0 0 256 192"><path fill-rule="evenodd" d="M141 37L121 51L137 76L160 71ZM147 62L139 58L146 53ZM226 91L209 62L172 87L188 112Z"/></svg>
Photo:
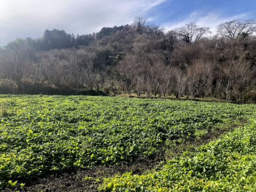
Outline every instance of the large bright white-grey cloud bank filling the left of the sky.
<svg viewBox="0 0 256 192"><path fill-rule="evenodd" d="M102 27L131 24L166 0L3 0L0 1L0 46L46 30L87 34Z"/></svg>

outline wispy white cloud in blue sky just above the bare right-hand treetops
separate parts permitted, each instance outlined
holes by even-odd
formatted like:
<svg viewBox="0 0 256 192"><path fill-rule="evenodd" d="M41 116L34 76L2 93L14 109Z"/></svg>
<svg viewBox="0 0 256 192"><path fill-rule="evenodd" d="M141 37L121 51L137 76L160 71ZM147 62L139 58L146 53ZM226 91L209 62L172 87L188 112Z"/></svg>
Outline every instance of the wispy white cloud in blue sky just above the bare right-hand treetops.
<svg viewBox="0 0 256 192"><path fill-rule="evenodd" d="M244 19L247 17L247 14L239 14L239 15L233 15L233 16L222 16L223 11L217 10L212 12L203 12L203 11L195 11L192 12L188 17L186 17L183 20L179 20L177 22L173 23L165 23L163 24L166 31L177 29L179 27L184 26L185 24L196 22L197 25L201 27L209 27L210 31L212 32L211 35L217 34L217 27L221 23L228 22L229 20L233 19Z"/></svg>

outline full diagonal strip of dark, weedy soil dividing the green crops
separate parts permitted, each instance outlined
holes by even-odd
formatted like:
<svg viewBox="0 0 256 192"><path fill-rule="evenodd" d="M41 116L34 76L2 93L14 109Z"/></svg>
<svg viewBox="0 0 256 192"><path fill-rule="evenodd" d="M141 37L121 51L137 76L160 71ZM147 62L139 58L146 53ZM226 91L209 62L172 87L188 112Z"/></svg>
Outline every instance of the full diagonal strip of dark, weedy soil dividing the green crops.
<svg viewBox="0 0 256 192"><path fill-rule="evenodd" d="M147 159L135 159L132 163L123 163L119 165L110 166L96 166L94 168L72 167L67 169L65 173L57 173L36 180L31 180L23 188L5 188L0 191L98 191L98 185L102 182L102 178L113 177L126 172L133 174L142 174L151 169L158 169L157 165L170 159L174 156L181 155L184 151L193 152L195 148L204 143L220 137L226 132L234 130L234 128L241 126L241 123L225 124L221 128L209 127L208 133L200 138L190 137L184 140L183 143L178 143L170 150L171 155L164 155L165 151L161 150L157 155ZM193 145L193 147L191 147ZM86 178L87 179L84 179ZM96 180L98 178L98 180Z"/></svg>

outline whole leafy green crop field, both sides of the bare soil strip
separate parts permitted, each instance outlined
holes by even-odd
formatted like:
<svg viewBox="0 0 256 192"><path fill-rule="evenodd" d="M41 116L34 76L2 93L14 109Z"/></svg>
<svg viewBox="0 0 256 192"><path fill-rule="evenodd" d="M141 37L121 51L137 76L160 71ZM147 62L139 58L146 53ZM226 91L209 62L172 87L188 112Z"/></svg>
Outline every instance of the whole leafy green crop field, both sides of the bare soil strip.
<svg viewBox="0 0 256 192"><path fill-rule="evenodd" d="M253 104L2 95L0 187L26 187L70 167L119 167L161 157L156 170L84 182L100 180L103 191L253 191L255 115ZM172 151L232 130L197 150Z"/></svg>

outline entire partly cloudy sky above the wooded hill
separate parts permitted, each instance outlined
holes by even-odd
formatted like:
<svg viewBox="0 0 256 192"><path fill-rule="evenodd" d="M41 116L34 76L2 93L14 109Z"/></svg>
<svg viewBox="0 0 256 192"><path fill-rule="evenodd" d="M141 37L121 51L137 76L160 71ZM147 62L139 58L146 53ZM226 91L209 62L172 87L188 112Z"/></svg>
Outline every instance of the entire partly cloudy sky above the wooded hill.
<svg viewBox="0 0 256 192"><path fill-rule="evenodd" d="M136 16L165 32L196 22L216 34L221 23L256 19L256 0L0 0L0 46L42 37L46 29L89 34L132 24Z"/></svg>

